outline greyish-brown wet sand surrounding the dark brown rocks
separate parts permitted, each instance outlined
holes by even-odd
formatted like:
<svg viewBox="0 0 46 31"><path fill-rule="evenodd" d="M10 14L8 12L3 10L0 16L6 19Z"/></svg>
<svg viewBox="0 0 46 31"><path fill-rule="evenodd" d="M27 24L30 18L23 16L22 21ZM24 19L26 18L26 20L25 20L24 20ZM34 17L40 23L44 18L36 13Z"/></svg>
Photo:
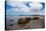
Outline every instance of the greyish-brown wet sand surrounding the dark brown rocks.
<svg viewBox="0 0 46 31"><path fill-rule="evenodd" d="M25 17L39 17L39 20L31 20L29 23L27 23L24 27L21 27L17 24L19 18L25 18ZM14 21L9 21L14 20ZM7 30L18 30L18 29L39 29L44 28L44 16L7 16L6 17L6 29ZM11 26L8 26L10 25Z"/></svg>

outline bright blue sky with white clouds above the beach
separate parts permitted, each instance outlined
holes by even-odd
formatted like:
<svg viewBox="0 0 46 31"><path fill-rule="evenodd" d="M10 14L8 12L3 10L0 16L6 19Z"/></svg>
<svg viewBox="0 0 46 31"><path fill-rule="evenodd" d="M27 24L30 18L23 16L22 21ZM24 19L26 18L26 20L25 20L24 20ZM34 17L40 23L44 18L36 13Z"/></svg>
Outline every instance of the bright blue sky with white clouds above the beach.
<svg viewBox="0 0 46 31"><path fill-rule="evenodd" d="M44 15L45 5L40 2L15 2L7 1L6 15L19 16L19 15Z"/></svg>

